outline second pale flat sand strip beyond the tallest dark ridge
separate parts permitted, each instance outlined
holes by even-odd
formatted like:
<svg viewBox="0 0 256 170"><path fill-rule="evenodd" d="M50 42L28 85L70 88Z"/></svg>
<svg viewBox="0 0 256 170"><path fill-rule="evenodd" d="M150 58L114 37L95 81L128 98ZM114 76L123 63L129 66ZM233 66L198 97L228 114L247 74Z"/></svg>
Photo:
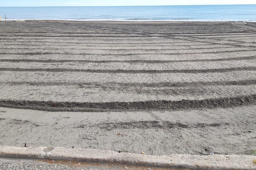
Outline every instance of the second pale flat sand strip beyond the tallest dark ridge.
<svg viewBox="0 0 256 170"><path fill-rule="evenodd" d="M224 73L87 73L48 71L0 71L2 82L81 82L81 83L192 83L253 80L256 71Z"/></svg>

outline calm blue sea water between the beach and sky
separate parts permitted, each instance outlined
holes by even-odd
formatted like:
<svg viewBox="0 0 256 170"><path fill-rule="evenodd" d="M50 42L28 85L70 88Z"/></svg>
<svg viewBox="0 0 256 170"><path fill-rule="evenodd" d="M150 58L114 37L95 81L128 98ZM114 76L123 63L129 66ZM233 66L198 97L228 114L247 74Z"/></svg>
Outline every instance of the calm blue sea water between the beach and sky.
<svg viewBox="0 0 256 170"><path fill-rule="evenodd" d="M256 5L0 7L7 20L256 21Z"/></svg>

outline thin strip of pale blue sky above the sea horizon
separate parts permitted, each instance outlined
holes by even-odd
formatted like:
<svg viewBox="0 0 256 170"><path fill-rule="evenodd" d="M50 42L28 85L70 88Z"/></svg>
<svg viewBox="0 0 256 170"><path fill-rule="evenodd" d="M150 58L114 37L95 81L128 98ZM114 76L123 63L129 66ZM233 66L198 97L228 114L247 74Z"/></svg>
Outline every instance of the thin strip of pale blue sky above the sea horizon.
<svg viewBox="0 0 256 170"><path fill-rule="evenodd" d="M3 0L0 6L141 6L223 4L256 4L256 0Z"/></svg>

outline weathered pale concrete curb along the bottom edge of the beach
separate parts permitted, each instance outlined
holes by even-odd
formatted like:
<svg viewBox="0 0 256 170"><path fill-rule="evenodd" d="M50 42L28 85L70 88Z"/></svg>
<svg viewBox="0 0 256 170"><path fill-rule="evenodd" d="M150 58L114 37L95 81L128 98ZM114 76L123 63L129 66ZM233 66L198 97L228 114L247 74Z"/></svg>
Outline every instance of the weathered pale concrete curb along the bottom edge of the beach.
<svg viewBox="0 0 256 170"><path fill-rule="evenodd" d="M189 169L241 169L256 170L256 156L241 155L169 155L153 156L118 153L110 150L67 149L63 147L0 146L0 157L75 160L80 162L122 163L129 165Z"/></svg>

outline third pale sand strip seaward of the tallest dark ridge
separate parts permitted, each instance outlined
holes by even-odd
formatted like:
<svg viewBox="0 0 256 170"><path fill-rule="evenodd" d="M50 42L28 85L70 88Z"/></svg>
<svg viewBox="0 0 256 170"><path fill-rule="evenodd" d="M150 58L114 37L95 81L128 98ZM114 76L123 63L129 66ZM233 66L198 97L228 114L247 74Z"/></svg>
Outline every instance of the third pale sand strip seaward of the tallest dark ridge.
<svg viewBox="0 0 256 170"><path fill-rule="evenodd" d="M54 68L53 68L54 67ZM199 61L199 62L172 62L164 63L129 63L129 62L106 62L106 63L95 63L95 62L1 62L0 70L13 70L18 71L24 69L24 71L86 71L88 70L123 70L123 71L139 71L144 70L145 72L154 71L169 71L169 72L225 72L230 70L255 70L256 59L250 60L229 60L229 61Z"/></svg>

